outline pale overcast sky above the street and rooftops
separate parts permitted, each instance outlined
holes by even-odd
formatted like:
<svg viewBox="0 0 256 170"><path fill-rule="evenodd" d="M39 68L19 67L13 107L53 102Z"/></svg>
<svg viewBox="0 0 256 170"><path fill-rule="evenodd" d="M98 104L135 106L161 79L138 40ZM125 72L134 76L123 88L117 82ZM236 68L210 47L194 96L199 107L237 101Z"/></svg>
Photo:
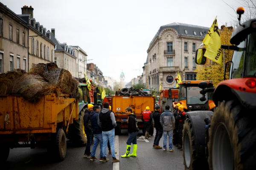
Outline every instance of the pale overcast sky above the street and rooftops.
<svg viewBox="0 0 256 170"><path fill-rule="evenodd" d="M239 6L236 0L224 0ZM148 45L160 26L187 23L210 27L231 23L233 9L222 0L0 0L16 14L34 8L34 18L55 28L61 43L80 46L104 76L131 81L143 72ZM134 70L137 69L137 70ZM139 71L141 69L141 72Z"/></svg>

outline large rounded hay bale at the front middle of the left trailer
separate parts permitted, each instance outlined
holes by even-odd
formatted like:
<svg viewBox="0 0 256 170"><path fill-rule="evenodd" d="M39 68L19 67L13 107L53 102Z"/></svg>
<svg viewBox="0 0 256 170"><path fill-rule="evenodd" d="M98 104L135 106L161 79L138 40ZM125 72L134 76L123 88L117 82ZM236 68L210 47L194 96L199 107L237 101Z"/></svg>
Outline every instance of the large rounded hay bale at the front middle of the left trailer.
<svg viewBox="0 0 256 170"><path fill-rule="evenodd" d="M28 101L37 101L42 95L55 93L60 95L61 89L47 83L35 72L28 72L13 82L12 93L23 95Z"/></svg>

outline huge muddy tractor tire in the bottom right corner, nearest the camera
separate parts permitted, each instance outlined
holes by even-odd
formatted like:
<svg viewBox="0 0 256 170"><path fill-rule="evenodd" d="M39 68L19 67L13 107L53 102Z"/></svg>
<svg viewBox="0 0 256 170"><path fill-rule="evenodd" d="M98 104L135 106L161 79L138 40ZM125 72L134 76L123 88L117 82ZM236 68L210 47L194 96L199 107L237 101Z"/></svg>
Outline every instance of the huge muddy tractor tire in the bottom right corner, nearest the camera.
<svg viewBox="0 0 256 170"><path fill-rule="evenodd" d="M239 101L223 101L215 107L209 130L210 170L255 169L255 113Z"/></svg>

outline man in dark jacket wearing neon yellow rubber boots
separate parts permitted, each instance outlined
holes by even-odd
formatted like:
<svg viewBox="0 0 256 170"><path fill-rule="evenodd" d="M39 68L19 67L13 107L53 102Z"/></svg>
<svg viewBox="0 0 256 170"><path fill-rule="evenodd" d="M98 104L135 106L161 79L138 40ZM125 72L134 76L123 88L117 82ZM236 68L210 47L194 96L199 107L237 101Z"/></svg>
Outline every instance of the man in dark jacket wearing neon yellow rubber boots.
<svg viewBox="0 0 256 170"><path fill-rule="evenodd" d="M131 107L125 109L126 115L128 115L128 139L126 141L126 153L122 155L122 158L137 157L137 135L139 132L136 115L132 113ZM131 151L131 143L133 144L133 152Z"/></svg>

